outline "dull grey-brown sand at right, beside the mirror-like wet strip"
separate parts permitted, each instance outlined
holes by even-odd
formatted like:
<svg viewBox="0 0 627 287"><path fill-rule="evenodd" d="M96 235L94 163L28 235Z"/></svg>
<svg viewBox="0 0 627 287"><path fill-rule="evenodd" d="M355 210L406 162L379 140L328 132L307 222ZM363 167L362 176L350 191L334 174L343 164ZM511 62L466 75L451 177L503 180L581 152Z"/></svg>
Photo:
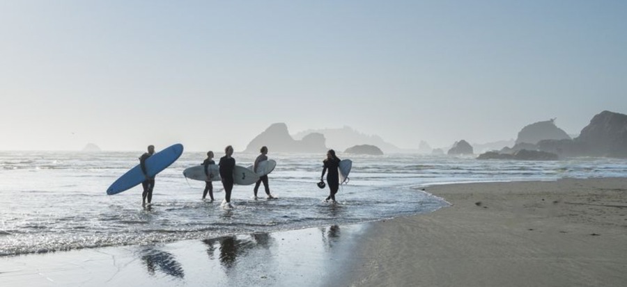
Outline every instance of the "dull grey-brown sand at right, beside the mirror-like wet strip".
<svg viewBox="0 0 627 287"><path fill-rule="evenodd" d="M373 223L342 286L627 286L627 179L434 186Z"/></svg>

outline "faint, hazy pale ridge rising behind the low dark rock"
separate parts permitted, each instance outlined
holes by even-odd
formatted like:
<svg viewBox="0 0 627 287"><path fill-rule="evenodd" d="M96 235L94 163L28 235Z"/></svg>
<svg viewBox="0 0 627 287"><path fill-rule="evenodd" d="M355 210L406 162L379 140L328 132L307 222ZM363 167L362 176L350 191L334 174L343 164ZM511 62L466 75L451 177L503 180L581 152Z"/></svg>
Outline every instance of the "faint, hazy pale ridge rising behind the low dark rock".
<svg viewBox="0 0 627 287"><path fill-rule="evenodd" d="M294 135L295 139L302 138L310 133L322 133L327 139L327 147L331 147L336 150L345 150L348 147L355 145L374 145L385 151L386 153L402 152L403 149L392 145L389 142L385 142L379 136L369 136L359 131L355 131L348 126L344 126L341 129L309 129L302 131Z"/></svg>

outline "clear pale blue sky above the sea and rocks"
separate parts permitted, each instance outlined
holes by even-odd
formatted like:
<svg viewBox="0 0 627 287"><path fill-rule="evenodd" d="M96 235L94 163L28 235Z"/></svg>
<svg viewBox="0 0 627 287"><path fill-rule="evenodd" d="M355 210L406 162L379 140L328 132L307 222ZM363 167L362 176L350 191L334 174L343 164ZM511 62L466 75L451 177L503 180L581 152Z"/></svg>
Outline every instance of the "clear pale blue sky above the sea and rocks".
<svg viewBox="0 0 627 287"><path fill-rule="evenodd" d="M0 150L401 148L627 113L627 1L0 0Z"/></svg>

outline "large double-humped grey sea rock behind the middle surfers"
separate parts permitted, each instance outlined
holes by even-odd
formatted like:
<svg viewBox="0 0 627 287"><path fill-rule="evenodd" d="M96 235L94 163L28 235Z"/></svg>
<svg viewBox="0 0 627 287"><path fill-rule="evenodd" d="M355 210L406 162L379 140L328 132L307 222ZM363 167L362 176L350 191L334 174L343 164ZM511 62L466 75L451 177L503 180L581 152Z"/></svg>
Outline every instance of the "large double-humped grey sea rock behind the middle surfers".
<svg viewBox="0 0 627 287"><path fill-rule="evenodd" d="M288 132L287 125L284 123L270 125L263 133L251 140L245 152L256 153L264 145L271 152L324 153L327 151L323 134L310 133L302 140L294 140Z"/></svg>

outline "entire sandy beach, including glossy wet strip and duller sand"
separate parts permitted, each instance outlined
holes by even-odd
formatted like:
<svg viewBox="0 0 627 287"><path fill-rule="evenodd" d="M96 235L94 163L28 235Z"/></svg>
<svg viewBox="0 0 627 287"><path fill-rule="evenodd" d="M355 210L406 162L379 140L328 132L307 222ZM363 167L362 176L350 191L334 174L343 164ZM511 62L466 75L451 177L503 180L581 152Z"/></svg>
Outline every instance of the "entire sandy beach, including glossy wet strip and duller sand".
<svg viewBox="0 0 627 287"><path fill-rule="evenodd" d="M426 188L367 224L0 258L0 286L625 286L627 179Z"/></svg>

